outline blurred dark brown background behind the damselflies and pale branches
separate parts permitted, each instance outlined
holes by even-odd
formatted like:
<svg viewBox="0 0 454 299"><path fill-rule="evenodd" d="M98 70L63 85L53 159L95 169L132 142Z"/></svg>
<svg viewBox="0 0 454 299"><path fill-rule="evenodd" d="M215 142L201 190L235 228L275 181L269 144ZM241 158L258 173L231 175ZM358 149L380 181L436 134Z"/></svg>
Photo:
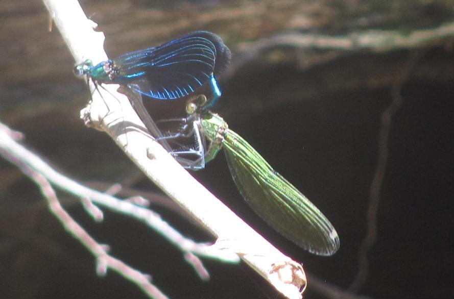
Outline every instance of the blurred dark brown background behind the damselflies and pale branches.
<svg viewBox="0 0 454 299"><path fill-rule="evenodd" d="M194 173L207 188L304 264L310 278L347 290L367 232L374 173L386 166L377 240L356 293L373 298L452 298L454 247L454 3L400 1L82 1L106 35L110 57L194 30L219 34L233 53L213 109L308 196L337 229L341 247L310 255L265 225L242 200L223 155ZM0 120L66 175L104 190L121 183L159 192L107 135L79 119L89 93L38 1L0 1ZM393 101L388 163L382 114ZM165 105L161 105L165 109ZM204 260L201 282L182 254L142 223L104 209L94 221L78 198L67 210L111 254L150 273L171 298L277 298L245 265ZM121 195L121 194L120 194ZM124 195L126 196L126 195ZM197 200L197 198L194 198ZM0 159L0 297L145 298L115 273L95 275L90 254L47 210L38 188ZM164 207L196 240L212 238Z"/></svg>

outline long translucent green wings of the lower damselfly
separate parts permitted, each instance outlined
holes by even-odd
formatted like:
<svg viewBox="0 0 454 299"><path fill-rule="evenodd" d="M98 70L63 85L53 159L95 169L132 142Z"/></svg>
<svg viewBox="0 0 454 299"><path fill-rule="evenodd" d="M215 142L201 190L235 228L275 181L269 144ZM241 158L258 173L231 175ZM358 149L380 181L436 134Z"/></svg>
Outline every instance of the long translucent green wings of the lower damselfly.
<svg viewBox="0 0 454 299"><path fill-rule="evenodd" d="M227 129L224 138L233 180L251 208L277 232L310 253L334 254L339 237L322 212L241 136Z"/></svg>

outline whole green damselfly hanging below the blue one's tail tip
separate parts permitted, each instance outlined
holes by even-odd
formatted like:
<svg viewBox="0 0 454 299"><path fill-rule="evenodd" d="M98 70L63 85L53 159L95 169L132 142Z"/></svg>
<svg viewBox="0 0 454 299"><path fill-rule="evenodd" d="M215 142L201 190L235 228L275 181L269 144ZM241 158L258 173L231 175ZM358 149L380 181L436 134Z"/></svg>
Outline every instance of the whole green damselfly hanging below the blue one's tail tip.
<svg viewBox="0 0 454 299"><path fill-rule="evenodd" d="M224 148L238 190L262 219L310 253L323 256L334 254L339 249L339 236L329 220L244 138L230 130L221 116L206 109L205 102L204 95L190 102L186 108L188 117L184 120L185 130L209 141L206 148L202 147L203 157L195 164L200 160L209 162ZM173 153L177 160L180 154ZM183 166L197 169L197 165Z"/></svg>

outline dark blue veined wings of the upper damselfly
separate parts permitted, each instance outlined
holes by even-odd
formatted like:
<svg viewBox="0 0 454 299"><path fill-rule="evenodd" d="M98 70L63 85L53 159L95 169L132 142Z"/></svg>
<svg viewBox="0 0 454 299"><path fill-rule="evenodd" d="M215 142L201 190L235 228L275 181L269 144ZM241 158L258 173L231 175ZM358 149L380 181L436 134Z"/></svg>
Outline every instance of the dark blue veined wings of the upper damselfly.
<svg viewBox="0 0 454 299"><path fill-rule="evenodd" d="M157 99L193 93L221 73L230 50L216 34L198 31L113 60L114 81Z"/></svg>

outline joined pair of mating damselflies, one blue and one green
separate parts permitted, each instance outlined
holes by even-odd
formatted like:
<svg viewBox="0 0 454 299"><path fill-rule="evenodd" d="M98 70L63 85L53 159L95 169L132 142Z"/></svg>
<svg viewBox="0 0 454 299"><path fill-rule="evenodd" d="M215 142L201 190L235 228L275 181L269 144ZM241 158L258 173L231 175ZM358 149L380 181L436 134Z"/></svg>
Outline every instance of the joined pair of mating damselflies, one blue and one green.
<svg viewBox="0 0 454 299"><path fill-rule="evenodd" d="M148 119L147 128L154 137L182 166L193 170L204 168L223 147L238 190L262 219L311 253L334 254L339 237L329 220L245 139L230 130L221 116L209 110L221 96L216 77L226 69L230 58L230 50L219 36L198 31L96 65L86 60L75 67L75 73L87 76L95 85L121 84L153 99L188 98L186 117L167 120L178 122L177 131L163 134ZM201 93L207 86L209 92ZM192 148L169 145L194 137L196 144ZM195 158L188 159L191 155Z"/></svg>

